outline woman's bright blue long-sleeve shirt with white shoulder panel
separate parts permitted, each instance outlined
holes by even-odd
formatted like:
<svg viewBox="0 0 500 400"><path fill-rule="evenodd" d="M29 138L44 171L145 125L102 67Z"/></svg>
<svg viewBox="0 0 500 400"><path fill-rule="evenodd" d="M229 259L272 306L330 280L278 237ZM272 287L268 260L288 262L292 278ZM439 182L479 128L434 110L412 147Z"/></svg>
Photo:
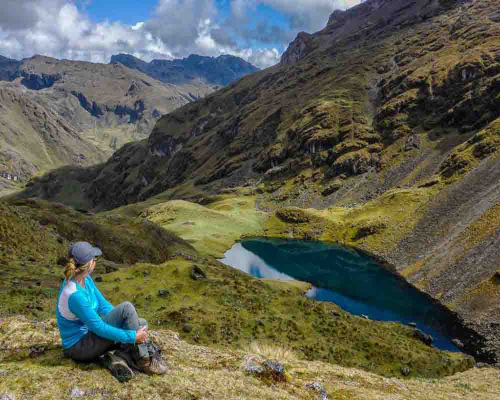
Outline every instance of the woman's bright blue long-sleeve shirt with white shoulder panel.
<svg viewBox="0 0 500 400"><path fill-rule="evenodd" d="M85 278L85 288L74 280L64 280L57 296L57 326L64 348L72 347L88 331L97 336L121 343L135 343L135 330L116 328L105 323L113 306L101 294L90 276Z"/></svg>

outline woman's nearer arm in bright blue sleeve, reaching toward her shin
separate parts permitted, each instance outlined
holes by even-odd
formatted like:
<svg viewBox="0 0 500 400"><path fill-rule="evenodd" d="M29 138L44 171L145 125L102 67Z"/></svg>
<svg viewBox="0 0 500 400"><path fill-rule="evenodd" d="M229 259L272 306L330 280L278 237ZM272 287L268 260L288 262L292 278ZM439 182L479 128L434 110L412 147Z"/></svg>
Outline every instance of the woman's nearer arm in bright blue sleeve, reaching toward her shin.
<svg viewBox="0 0 500 400"><path fill-rule="evenodd" d="M135 330L119 329L105 323L80 292L76 291L69 296L68 306L71 312L97 336L120 343L135 343Z"/></svg>

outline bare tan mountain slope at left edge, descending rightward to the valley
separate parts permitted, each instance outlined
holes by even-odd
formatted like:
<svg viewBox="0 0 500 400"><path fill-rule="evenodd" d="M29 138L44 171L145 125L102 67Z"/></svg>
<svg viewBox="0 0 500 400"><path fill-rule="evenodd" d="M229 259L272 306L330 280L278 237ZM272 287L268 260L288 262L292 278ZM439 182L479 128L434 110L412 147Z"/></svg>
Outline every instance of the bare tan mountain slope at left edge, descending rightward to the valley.
<svg viewBox="0 0 500 400"><path fill-rule="evenodd" d="M65 164L91 165L106 153L81 137L47 101L24 86L0 82L0 170L20 179Z"/></svg>

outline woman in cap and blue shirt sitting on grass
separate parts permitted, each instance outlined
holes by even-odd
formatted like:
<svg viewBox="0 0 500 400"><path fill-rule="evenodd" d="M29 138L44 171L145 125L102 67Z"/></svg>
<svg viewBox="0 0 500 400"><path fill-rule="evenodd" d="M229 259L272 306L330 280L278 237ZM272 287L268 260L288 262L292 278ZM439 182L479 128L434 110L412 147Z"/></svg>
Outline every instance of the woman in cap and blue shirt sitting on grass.
<svg viewBox="0 0 500 400"><path fill-rule="evenodd" d="M96 257L101 254L99 248L85 241L74 243L69 249L56 311L64 353L76 361L92 361L106 353L103 361L123 380L133 376L123 358L131 357L133 366L148 374L165 373L166 366L149 356L146 321L138 317L128 301L113 307L90 277ZM122 344L116 346L117 343ZM107 353L116 347L121 348L116 356Z"/></svg>

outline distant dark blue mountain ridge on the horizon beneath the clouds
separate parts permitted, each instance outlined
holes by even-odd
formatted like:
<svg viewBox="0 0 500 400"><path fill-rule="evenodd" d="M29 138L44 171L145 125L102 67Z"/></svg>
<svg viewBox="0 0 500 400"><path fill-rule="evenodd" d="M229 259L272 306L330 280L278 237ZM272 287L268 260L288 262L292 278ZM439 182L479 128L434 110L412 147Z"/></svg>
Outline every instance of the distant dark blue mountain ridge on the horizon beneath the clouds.
<svg viewBox="0 0 500 400"><path fill-rule="evenodd" d="M226 86L259 70L244 59L229 54L218 57L191 54L182 59L153 59L150 62L142 61L131 54L116 54L111 56L111 63L113 62L119 62L154 79L172 84L204 82L213 86Z"/></svg>

